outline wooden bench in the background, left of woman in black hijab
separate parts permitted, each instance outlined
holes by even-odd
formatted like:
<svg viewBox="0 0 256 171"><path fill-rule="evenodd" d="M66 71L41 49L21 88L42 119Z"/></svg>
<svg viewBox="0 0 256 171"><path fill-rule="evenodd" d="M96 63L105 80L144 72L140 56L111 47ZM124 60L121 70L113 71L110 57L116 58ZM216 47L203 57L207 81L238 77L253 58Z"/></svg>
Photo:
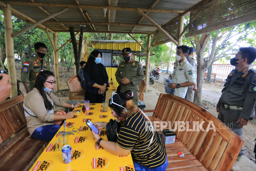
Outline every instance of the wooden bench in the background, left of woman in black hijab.
<svg viewBox="0 0 256 171"><path fill-rule="evenodd" d="M67 81L69 89L69 100L83 100L85 89L82 89L77 75L74 75Z"/></svg>

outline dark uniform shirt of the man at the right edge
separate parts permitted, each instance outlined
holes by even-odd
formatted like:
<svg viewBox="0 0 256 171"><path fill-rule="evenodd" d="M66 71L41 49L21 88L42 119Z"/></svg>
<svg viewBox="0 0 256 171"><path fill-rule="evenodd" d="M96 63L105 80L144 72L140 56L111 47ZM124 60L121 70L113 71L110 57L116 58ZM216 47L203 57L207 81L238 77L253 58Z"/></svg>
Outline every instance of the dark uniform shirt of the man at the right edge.
<svg viewBox="0 0 256 171"><path fill-rule="evenodd" d="M243 107L239 117L249 120L256 95L256 70L249 65L237 74L236 71L232 70L226 79L217 106L220 107L222 101L225 105Z"/></svg>

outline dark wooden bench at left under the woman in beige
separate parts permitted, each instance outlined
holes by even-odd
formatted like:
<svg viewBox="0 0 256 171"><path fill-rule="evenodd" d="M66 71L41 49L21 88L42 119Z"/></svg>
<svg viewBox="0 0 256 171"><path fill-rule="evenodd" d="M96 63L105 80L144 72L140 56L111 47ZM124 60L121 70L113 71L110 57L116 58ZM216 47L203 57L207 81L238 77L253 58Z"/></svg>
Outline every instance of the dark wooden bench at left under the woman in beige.
<svg viewBox="0 0 256 171"><path fill-rule="evenodd" d="M0 103L0 170L27 171L48 144L29 137L22 94Z"/></svg>

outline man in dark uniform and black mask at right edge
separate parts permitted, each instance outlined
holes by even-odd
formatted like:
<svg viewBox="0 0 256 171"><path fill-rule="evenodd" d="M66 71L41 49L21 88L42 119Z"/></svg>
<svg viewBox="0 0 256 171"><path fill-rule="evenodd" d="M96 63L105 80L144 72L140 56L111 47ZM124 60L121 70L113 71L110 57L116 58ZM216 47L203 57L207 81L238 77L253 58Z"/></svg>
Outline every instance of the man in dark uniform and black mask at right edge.
<svg viewBox="0 0 256 171"><path fill-rule="evenodd" d="M256 70L250 67L255 59L256 48L239 48L236 57L230 60L230 64L236 69L228 75L216 107L219 112L218 119L241 138L243 126L248 123L255 102ZM232 167L233 171L240 169L244 153L242 147Z"/></svg>

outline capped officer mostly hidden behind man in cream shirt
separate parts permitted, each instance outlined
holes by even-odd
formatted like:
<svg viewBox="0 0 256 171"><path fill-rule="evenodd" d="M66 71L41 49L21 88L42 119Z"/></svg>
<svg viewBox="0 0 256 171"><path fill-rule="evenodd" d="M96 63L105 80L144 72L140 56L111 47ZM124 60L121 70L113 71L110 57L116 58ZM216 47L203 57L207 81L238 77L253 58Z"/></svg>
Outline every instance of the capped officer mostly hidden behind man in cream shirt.
<svg viewBox="0 0 256 171"><path fill-rule="evenodd" d="M196 60L194 59L194 56L196 55L196 52L197 51L193 47L189 47L187 60L190 63L190 65L192 65L192 67L194 68L195 76L197 77L197 74L196 74L197 73L197 64L196 64ZM188 86L188 91L187 91L187 94L185 96L185 99L187 99L188 101L193 102L196 90L197 90L197 85L196 85L196 80L195 80L195 85Z"/></svg>

